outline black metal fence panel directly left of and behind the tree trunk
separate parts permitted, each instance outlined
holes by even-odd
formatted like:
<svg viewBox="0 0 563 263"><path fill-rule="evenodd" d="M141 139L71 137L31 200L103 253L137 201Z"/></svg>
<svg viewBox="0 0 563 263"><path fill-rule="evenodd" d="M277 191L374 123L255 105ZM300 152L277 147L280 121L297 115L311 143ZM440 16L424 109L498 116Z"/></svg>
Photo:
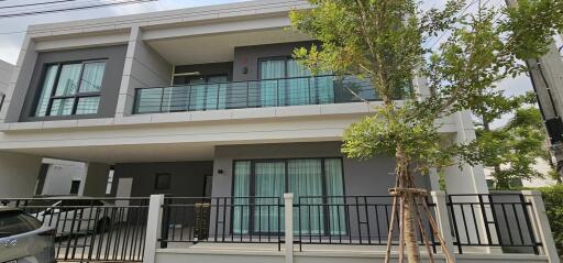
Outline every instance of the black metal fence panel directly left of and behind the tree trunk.
<svg viewBox="0 0 563 263"><path fill-rule="evenodd" d="M434 204L427 201L432 216ZM303 196L298 197L294 209L294 233L300 250L303 244L387 245L393 213L390 196ZM420 220L424 235L433 252L440 242L434 239L428 218L420 206ZM391 243L399 243L399 215L395 215ZM422 230L417 238L421 245Z"/></svg>

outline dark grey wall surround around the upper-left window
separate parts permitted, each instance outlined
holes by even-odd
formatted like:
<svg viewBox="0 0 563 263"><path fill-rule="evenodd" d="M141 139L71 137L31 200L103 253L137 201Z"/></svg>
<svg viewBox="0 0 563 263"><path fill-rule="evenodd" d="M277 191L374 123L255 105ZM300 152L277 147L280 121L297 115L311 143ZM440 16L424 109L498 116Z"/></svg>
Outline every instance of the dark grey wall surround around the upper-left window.
<svg viewBox="0 0 563 263"><path fill-rule="evenodd" d="M90 47L71 51L43 52L37 55L35 68L31 84L27 87L25 102L22 109L10 107L8 118L12 120L25 121L46 121L46 120L74 120L74 119L93 119L112 118L115 116L118 105L118 95L123 75L125 63L126 45ZM45 77L47 65L56 63L71 63L84 61L104 59L106 69L100 90L100 106L96 114L79 116L47 116L34 117L35 107L41 96L41 87Z"/></svg>

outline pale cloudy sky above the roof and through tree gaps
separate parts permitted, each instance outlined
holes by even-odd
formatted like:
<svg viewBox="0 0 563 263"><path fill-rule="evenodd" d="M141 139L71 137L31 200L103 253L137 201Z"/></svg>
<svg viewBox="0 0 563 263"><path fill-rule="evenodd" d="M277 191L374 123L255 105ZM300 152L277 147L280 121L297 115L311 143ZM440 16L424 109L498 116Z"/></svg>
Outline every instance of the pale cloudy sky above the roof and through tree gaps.
<svg viewBox="0 0 563 263"><path fill-rule="evenodd" d="M16 12L30 12L35 10L71 8L85 4L100 4L108 2L130 1L130 0L0 0L0 15ZM82 19L96 19L123 14L135 14L142 12L172 10L190 7L211 6L230 2L241 2L245 0L157 0L154 2L122 4L97 9L86 9L79 11L67 11L59 13L47 13L38 15L19 17L19 18L0 18L0 59L11 64L15 64L18 55L23 42L25 30L30 24L65 22ZM46 3L48 4L5 8L10 6ZM444 0L426 0L424 7L441 7ZM489 0L489 4L503 4L504 0ZM445 39L445 37L444 37ZM560 42L561 45L561 42ZM499 88L505 90L506 95L514 96L525 94L532 90L531 83L526 75L515 79L506 79L499 84ZM509 116L503 118L495 125L501 125L509 119Z"/></svg>

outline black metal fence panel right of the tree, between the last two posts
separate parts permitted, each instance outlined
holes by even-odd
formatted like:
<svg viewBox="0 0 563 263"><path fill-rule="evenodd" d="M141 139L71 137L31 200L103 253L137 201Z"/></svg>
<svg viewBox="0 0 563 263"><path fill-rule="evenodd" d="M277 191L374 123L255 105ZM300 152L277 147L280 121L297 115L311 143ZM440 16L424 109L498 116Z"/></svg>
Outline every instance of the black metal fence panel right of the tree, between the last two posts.
<svg viewBox="0 0 563 263"><path fill-rule="evenodd" d="M499 248L539 254L531 202L521 194L449 195L448 208L457 253L468 248Z"/></svg>

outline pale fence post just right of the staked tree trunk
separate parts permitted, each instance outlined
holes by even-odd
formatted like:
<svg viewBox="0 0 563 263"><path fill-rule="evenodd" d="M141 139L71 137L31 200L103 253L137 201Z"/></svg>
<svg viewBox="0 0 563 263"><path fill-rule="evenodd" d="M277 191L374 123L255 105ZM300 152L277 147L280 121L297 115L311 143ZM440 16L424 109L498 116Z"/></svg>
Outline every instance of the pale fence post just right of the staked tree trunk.
<svg viewBox="0 0 563 263"><path fill-rule="evenodd" d="M445 201L445 193L441 190L433 190L430 194L432 195L432 201L435 205L435 221L438 223L440 234L444 240L443 245L448 252L450 252L450 254L455 257L453 251L452 228L450 226L450 215L448 212L448 205Z"/></svg>

